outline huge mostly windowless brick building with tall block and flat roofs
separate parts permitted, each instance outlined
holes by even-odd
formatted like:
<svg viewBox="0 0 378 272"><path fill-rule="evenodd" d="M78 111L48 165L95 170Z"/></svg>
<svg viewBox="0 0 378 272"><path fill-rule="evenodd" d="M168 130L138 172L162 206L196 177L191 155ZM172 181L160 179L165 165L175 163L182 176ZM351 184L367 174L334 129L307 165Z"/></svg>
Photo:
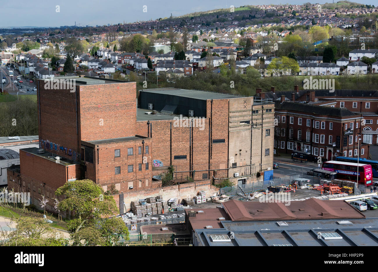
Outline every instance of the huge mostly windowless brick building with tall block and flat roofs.
<svg viewBox="0 0 378 272"><path fill-rule="evenodd" d="M162 187L156 176L170 165L174 178L200 185L248 183L271 170L271 99L173 88L137 99L135 82L95 77L37 85L40 148L21 149L20 166L8 168L8 187L33 202L76 179L141 198Z"/></svg>

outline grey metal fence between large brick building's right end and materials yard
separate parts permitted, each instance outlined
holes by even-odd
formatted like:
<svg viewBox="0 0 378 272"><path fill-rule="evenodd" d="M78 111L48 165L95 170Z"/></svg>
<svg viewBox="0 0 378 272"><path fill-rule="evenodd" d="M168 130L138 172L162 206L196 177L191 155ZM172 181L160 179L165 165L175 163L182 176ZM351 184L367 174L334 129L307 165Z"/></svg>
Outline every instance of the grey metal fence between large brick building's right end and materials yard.
<svg viewBox="0 0 378 272"><path fill-rule="evenodd" d="M220 195L233 196L239 193L251 193L257 190L266 189L271 185L288 185L294 183L294 179L300 178L301 175L285 176L282 178L274 178L270 181L256 181L249 184L234 185L219 189Z"/></svg>

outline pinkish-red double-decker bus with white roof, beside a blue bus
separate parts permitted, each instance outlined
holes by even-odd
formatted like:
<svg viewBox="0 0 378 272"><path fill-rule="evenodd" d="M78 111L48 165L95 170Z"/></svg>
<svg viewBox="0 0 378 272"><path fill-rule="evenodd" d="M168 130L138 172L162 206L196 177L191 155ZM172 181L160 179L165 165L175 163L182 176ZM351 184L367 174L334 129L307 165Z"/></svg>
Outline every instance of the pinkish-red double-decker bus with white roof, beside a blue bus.
<svg viewBox="0 0 378 272"><path fill-rule="evenodd" d="M366 186L372 185L372 166L370 164L357 164L354 162L326 161L322 165L323 170L336 172L337 179L358 181ZM357 179L358 177L358 179Z"/></svg>

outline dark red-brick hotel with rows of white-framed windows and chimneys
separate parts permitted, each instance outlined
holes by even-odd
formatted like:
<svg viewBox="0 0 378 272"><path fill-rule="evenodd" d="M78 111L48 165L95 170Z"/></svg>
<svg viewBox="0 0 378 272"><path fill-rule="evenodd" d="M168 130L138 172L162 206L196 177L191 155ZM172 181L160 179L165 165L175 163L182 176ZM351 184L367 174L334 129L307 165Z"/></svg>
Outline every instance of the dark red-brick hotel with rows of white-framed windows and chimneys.
<svg viewBox="0 0 378 272"><path fill-rule="evenodd" d="M371 130L375 127L369 130L366 121L364 124L366 114L371 113L361 105L368 103L366 105L377 108L378 101L372 95L350 90L335 90L334 93L328 90L306 91L298 90L298 86L293 93L275 91L274 87L271 92L260 93L258 90L257 93L275 101L276 153L309 151L313 157L320 156L323 161L331 160L336 154L357 157L358 135L361 135L359 156L369 157L369 144L372 142L366 132L374 133ZM364 94L367 95L365 98Z"/></svg>

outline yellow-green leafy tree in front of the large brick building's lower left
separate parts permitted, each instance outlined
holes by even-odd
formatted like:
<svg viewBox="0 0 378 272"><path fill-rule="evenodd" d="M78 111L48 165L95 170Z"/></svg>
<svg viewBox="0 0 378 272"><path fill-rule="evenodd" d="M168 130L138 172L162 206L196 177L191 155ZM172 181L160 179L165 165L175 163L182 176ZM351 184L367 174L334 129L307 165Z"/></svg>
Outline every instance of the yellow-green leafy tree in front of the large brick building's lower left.
<svg viewBox="0 0 378 272"><path fill-rule="evenodd" d="M64 196L59 202L60 210L74 212L68 221L68 229L74 245L81 241L88 246L111 246L120 236L128 240L129 231L121 218L110 217L117 213L112 196L89 179L68 181L55 194Z"/></svg>

